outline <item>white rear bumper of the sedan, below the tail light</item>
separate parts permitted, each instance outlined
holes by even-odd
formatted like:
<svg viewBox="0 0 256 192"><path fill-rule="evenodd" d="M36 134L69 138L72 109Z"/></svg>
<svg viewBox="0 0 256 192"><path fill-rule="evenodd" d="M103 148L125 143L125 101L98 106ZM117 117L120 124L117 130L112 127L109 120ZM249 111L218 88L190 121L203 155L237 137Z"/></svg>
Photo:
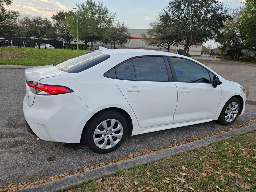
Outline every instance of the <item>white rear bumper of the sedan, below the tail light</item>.
<svg viewBox="0 0 256 192"><path fill-rule="evenodd" d="M76 93L36 95L32 106L23 100L28 132L42 140L79 143L86 122L93 115Z"/></svg>

